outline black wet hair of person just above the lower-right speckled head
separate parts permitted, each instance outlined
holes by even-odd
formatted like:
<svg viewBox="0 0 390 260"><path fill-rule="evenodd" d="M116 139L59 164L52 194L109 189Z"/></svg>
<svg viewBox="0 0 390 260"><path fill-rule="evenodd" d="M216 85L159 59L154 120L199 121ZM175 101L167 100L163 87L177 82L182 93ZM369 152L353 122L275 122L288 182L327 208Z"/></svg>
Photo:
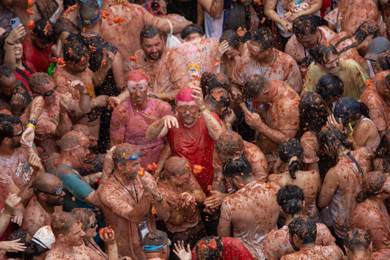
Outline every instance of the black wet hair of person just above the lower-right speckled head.
<svg viewBox="0 0 390 260"><path fill-rule="evenodd" d="M276 193L277 204L286 213L294 216L303 208L304 193L297 185L286 184Z"/></svg>

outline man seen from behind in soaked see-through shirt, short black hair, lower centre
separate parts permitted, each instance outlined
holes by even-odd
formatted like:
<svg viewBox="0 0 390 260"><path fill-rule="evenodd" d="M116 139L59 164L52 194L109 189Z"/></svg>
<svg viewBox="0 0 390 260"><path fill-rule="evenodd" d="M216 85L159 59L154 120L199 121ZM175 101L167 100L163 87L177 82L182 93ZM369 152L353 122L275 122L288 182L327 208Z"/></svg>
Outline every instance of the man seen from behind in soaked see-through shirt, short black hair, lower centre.
<svg viewBox="0 0 390 260"><path fill-rule="evenodd" d="M244 156L227 158L222 168L223 176L233 194L224 198L220 210L218 236L230 235L240 239L254 259L264 258L265 235L276 228L279 207L276 204L276 183L257 181L252 167ZM261 219L261 224L258 224ZM245 224L243 224L245 223Z"/></svg>

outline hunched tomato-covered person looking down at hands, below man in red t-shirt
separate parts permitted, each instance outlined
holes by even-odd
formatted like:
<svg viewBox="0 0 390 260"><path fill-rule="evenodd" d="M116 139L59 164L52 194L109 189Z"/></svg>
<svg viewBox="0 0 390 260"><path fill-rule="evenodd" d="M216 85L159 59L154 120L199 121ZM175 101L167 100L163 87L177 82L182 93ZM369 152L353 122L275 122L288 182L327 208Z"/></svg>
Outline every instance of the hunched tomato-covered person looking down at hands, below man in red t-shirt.
<svg viewBox="0 0 390 260"><path fill-rule="evenodd" d="M206 195L185 158L172 156L164 166L164 178L158 182L158 188L169 205L169 219L165 221L169 237L193 247L206 236L199 211Z"/></svg>

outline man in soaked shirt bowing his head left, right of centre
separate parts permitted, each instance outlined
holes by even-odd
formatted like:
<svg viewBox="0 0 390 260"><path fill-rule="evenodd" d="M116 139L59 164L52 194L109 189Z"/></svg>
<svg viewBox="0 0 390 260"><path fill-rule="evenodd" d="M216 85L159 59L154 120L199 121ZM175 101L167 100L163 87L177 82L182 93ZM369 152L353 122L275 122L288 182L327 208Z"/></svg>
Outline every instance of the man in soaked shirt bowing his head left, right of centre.
<svg viewBox="0 0 390 260"><path fill-rule="evenodd" d="M298 132L299 96L287 83L269 80L261 75L251 75L243 90L243 94L251 101L269 107L265 108L260 116L248 111L241 98L235 99L244 110L245 122L259 132L257 145L264 152L270 170L277 160L280 142L285 138L295 137Z"/></svg>

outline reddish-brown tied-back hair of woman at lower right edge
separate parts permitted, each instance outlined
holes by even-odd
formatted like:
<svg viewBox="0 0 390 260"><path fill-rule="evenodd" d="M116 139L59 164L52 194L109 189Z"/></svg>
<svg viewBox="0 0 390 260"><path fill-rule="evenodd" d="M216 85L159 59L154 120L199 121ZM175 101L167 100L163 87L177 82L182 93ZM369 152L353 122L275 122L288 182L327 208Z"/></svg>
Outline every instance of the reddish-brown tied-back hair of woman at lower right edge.
<svg viewBox="0 0 390 260"><path fill-rule="evenodd" d="M381 171L371 171L368 174L365 174L363 176L361 191L357 192L357 195L355 196L356 202L364 202L367 198L384 192L379 192L379 190L386 181L386 178L387 176L385 173Z"/></svg>

